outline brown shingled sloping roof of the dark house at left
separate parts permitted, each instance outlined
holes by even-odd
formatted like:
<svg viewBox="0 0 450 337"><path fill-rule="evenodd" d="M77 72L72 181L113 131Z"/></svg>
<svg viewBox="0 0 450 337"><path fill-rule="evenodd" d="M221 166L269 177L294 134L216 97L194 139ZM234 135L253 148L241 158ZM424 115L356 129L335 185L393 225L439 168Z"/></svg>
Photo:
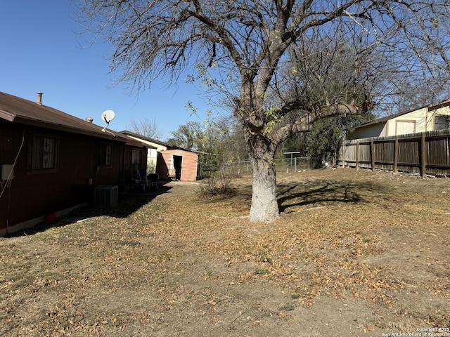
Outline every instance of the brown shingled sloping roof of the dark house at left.
<svg viewBox="0 0 450 337"><path fill-rule="evenodd" d="M8 93L0 91L0 119L11 121L13 123L40 126L52 128L55 130L66 131L70 133L79 133L97 138L107 138L122 141L130 145L142 144L133 142L122 136L120 133L108 128L108 132L103 132L103 127L89 123L60 110L53 109L46 105L40 105L30 100L25 100ZM111 133L109 133L111 132Z"/></svg>

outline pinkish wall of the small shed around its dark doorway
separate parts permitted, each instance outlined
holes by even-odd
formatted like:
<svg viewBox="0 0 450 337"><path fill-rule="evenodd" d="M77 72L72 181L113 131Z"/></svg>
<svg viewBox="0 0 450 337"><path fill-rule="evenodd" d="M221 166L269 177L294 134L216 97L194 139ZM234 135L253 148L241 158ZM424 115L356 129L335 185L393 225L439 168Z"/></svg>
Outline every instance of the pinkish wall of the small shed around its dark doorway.
<svg viewBox="0 0 450 337"><path fill-rule="evenodd" d="M181 157L181 172L176 177L176 160ZM178 158L178 159L177 159ZM197 179L198 154L184 150L166 150L158 152L156 173L161 179L179 178L181 181Z"/></svg>

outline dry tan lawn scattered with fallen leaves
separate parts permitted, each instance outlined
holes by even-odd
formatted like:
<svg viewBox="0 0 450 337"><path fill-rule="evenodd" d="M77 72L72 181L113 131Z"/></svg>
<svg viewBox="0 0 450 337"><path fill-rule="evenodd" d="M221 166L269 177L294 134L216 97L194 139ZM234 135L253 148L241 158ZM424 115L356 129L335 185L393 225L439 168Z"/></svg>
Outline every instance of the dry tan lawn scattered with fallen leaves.
<svg viewBox="0 0 450 337"><path fill-rule="evenodd" d="M450 336L450 179L278 185L271 224L245 217L240 178L226 198L172 182L0 238L0 336Z"/></svg>

